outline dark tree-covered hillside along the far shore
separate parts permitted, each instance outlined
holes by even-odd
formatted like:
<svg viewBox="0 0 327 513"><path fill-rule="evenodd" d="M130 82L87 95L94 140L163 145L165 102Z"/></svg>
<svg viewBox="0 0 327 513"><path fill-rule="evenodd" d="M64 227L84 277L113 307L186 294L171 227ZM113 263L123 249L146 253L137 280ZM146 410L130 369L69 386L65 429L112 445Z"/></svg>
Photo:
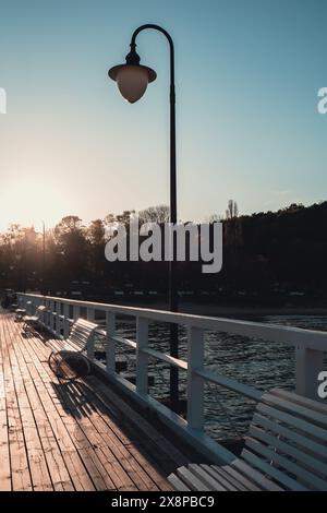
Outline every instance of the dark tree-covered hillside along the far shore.
<svg viewBox="0 0 327 513"><path fill-rule="evenodd" d="M45 234L11 225L0 235L0 288L40 290L85 299L108 299L118 291L167 295L167 262L108 262L105 246L112 224L128 226L134 211L109 214L84 225L69 215ZM141 223L169 220L166 205L138 213ZM239 215L230 201L223 218L223 264L204 275L201 262L177 263L177 287L185 297L222 302L322 302L326 298L327 202L291 204L278 212ZM187 296L187 297L189 297Z"/></svg>

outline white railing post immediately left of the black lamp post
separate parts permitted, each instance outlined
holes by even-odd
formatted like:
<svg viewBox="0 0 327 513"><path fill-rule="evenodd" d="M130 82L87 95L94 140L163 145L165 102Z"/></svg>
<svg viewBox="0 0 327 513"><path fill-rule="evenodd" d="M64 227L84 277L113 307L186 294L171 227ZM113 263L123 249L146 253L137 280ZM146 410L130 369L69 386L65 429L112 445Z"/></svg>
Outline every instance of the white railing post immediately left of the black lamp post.
<svg viewBox="0 0 327 513"><path fill-rule="evenodd" d="M136 392L144 395L148 392L148 356L143 353L148 347L148 320L137 317L136 331Z"/></svg>

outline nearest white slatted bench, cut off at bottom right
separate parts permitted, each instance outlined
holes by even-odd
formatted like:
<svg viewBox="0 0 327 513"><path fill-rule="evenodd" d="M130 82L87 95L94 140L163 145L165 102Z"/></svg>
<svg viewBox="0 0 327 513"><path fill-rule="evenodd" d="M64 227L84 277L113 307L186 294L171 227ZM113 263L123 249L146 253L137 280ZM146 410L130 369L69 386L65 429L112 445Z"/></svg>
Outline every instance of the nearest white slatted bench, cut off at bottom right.
<svg viewBox="0 0 327 513"><path fill-rule="evenodd" d="M190 464L168 480L178 491L327 490L327 405L275 389L257 404L240 457Z"/></svg>

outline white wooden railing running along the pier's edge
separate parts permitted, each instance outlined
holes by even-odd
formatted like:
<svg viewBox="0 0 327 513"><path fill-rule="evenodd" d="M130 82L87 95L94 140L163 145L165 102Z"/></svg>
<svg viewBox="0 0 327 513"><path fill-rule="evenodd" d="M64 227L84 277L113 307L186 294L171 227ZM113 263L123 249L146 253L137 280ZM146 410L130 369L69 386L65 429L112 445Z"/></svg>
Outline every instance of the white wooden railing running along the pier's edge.
<svg viewBox="0 0 327 513"><path fill-rule="evenodd" d="M242 394L255 402L263 392L230 378L213 372L204 366L205 331L225 332L250 338L259 338L270 343L281 343L295 349L295 391L300 395L318 399L317 377L324 369L324 356L327 353L327 333L278 326L257 322L237 321L230 319L171 313L161 310L122 307L98 302L78 301L58 297L19 294L20 306L27 306L33 312L39 305L47 307L43 314L43 323L57 337L66 337L71 323L82 313L95 321L98 312L105 312L105 330L99 334L105 337L106 366L96 361L94 350L88 350L88 358L97 366L108 380L114 382L125 393L137 399L143 406L154 408L158 416L170 428L196 445L207 456L221 462L230 462L230 453L214 442L204 432L204 384L210 382ZM83 312L82 312L83 310ZM102 314L104 315L104 314ZM136 319L136 341L117 335L117 315ZM148 325L150 322L177 323L187 329L187 361L172 358L148 347ZM116 372L116 347L123 345L136 351L136 384ZM177 367L186 373L187 380L187 414L186 420L167 406L148 395L148 360L153 358ZM272 369L274 372L274 369Z"/></svg>

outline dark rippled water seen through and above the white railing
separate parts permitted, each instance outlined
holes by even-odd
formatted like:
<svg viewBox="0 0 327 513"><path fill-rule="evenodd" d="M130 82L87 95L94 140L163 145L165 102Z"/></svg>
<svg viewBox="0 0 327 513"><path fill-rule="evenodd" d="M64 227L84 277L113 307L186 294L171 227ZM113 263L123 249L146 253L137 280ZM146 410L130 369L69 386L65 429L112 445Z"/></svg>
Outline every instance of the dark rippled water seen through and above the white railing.
<svg viewBox="0 0 327 513"><path fill-rule="evenodd" d="M327 331L327 317L271 315L255 321L311 330ZM135 339L135 322L118 321L118 334ZM186 333L179 331L180 358L186 359ZM167 324L149 326L149 346L162 353L169 350ZM128 361L126 373L135 374L134 350L119 349L118 357ZM267 391L275 386L292 390L294 386L294 350L282 344L231 336L226 333L205 333L205 363L222 375ZM169 368L150 359L149 372L155 384L149 393L156 398L169 395ZM185 397L185 374L180 371L180 394ZM247 430L254 403L217 385L205 386L205 428L216 440L233 438Z"/></svg>

